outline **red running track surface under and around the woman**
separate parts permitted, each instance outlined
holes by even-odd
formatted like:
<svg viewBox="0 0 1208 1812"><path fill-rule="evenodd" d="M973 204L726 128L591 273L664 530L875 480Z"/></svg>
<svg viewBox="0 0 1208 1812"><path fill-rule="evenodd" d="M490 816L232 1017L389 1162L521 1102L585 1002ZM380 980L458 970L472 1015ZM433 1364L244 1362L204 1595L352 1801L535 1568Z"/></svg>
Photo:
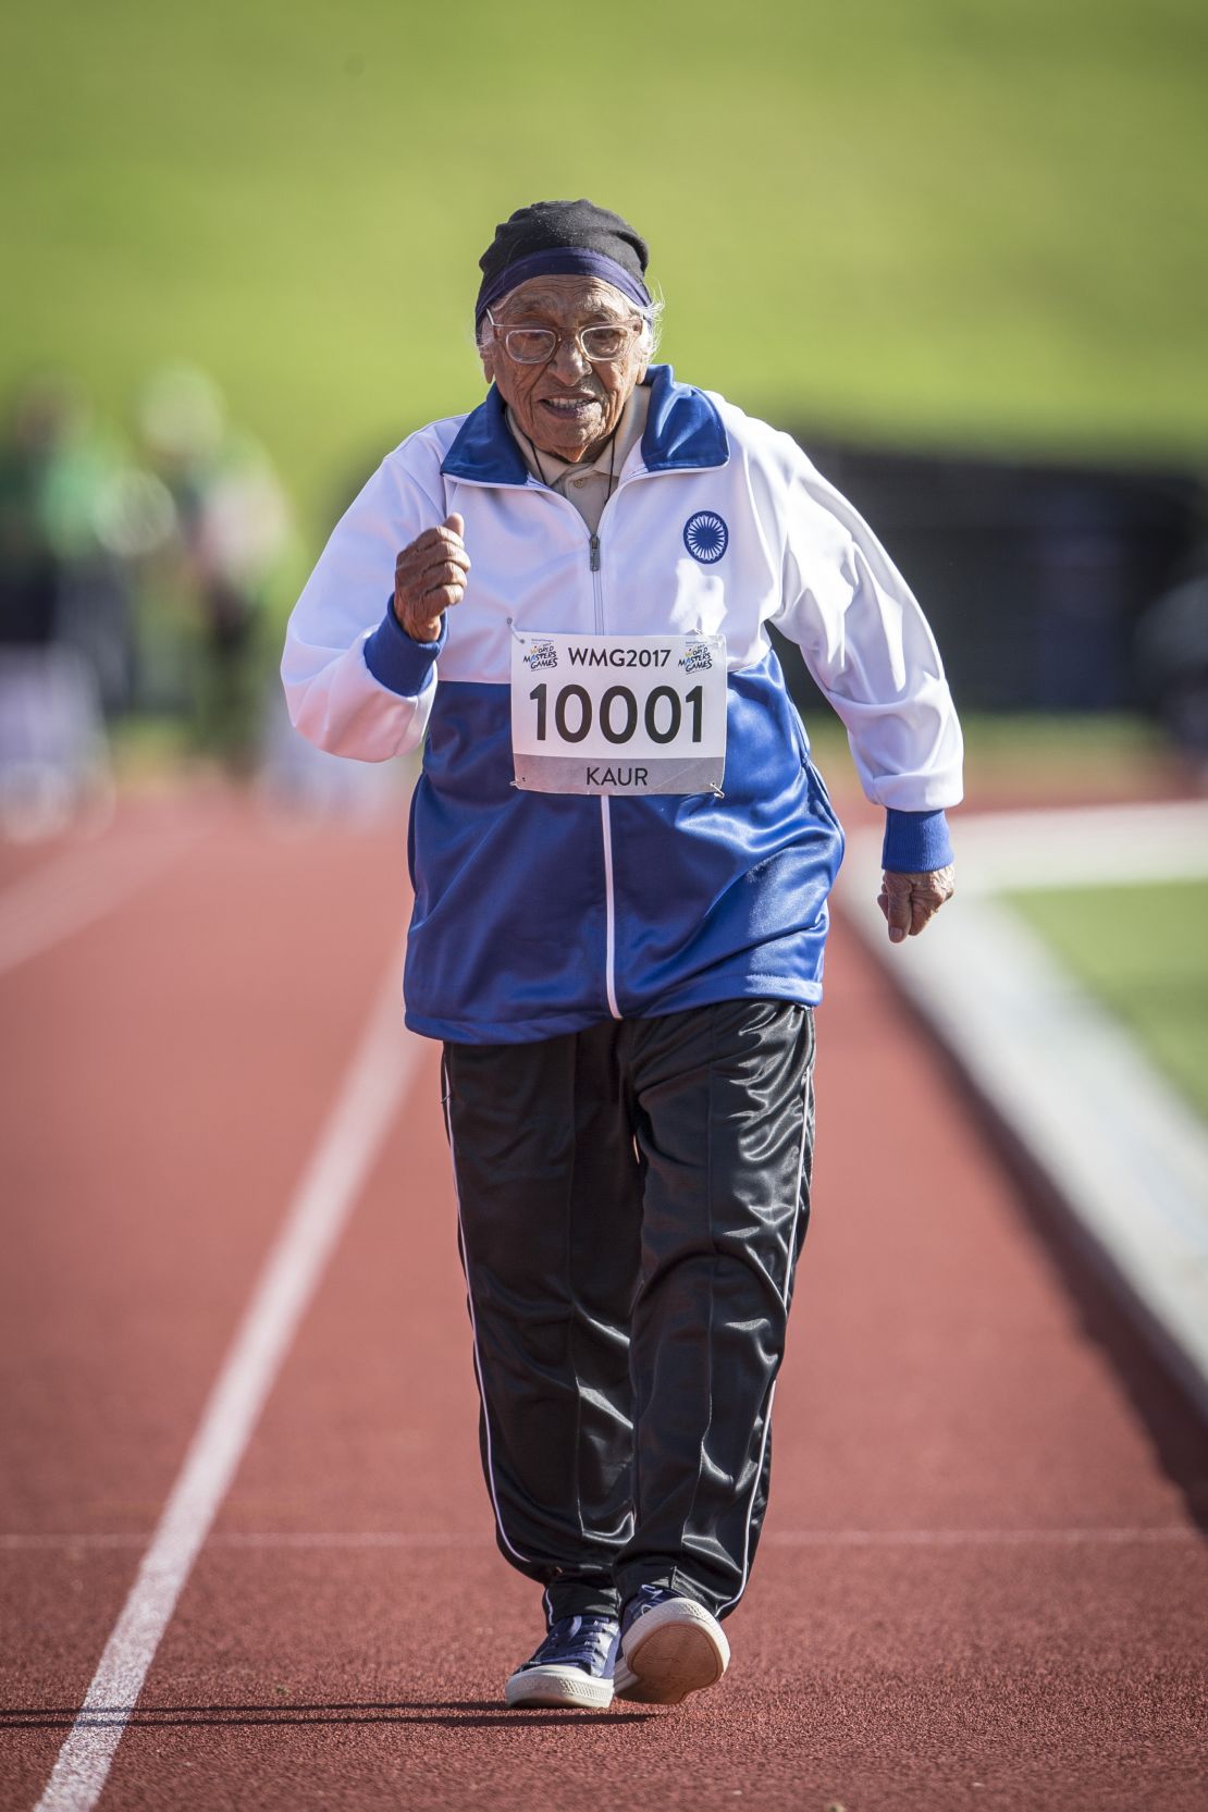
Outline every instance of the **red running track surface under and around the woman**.
<svg viewBox="0 0 1208 1812"><path fill-rule="evenodd" d="M4 1808L36 1805L72 1729L406 915L400 824L286 837L179 794L0 863L0 924L67 857L72 888L105 864L96 910L0 973ZM772 1509L723 1683L503 1709L540 1605L478 1475L424 1046L107 1812L1204 1812L1203 1430L842 926L819 1053Z"/></svg>

